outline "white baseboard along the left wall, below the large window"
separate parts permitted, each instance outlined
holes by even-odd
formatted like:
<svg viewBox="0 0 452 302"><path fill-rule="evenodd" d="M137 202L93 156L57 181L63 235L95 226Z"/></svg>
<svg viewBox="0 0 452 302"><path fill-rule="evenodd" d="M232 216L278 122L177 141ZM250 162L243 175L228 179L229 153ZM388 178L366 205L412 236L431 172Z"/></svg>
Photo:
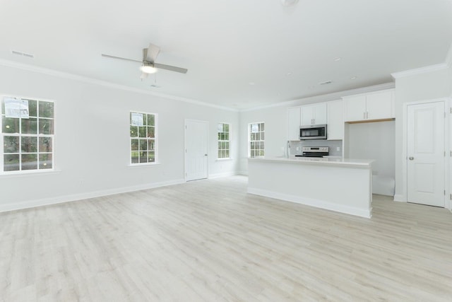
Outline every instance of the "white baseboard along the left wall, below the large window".
<svg viewBox="0 0 452 302"><path fill-rule="evenodd" d="M102 196L107 196L107 195L112 195L112 194L121 194L121 193L126 193L126 192L148 190L148 189L153 189L155 187L165 187L168 185L179 185L184 182L185 182L184 179L169 180L169 181L165 181L165 182L153 182L153 183L146 184L146 185L136 185L136 186L131 186L131 187L119 187L119 188L109 189L109 190L87 192L87 193L81 193L81 194L72 194L72 195L43 198L43 199L35 199L35 200L27 201L27 202L0 204L0 213L4 212L4 211L14 211L14 210L19 210L19 209L29 209L29 208L33 208L33 207L48 206L50 204L75 202L76 200L102 197Z"/></svg>

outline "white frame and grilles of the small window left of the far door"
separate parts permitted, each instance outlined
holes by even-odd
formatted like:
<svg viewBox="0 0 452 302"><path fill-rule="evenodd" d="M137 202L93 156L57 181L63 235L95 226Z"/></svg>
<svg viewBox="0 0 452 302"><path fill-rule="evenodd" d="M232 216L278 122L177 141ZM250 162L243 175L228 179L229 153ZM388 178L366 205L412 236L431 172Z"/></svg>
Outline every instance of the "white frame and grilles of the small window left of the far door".
<svg viewBox="0 0 452 302"><path fill-rule="evenodd" d="M153 115L154 116L154 125L153 126L149 126L147 124L147 118L146 118L146 124L143 127L146 127L146 137L131 137L131 127L136 127L133 126L131 124L131 115L132 113L139 113L139 114L143 114L143 115ZM148 131L148 127L154 127L154 137L147 137L147 131ZM139 131L139 130L138 130ZM139 134L138 134L139 135ZM138 157L138 163L133 163L132 162L132 153L140 153L141 150L132 150L132 140L133 139L138 139L138 148L140 148L141 144L140 144L140 140L145 140L147 141L147 146L148 149L146 150L147 154L150 151L149 150L149 142L150 141L154 141L154 161L151 162L145 162L145 163L140 163L140 159ZM149 155L147 156L147 158L149 158ZM152 113L152 112L143 112L141 110L131 110L129 112L129 165L131 166L141 166L141 165L156 165L158 164L158 114L157 113Z"/></svg>

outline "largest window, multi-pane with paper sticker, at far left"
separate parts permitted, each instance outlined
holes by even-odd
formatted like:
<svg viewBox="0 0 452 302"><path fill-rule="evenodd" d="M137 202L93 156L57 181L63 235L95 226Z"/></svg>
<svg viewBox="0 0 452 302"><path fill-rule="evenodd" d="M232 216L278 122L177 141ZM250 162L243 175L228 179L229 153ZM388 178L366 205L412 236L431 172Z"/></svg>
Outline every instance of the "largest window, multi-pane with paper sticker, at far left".
<svg viewBox="0 0 452 302"><path fill-rule="evenodd" d="M1 98L3 172L53 169L54 103Z"/></svg>

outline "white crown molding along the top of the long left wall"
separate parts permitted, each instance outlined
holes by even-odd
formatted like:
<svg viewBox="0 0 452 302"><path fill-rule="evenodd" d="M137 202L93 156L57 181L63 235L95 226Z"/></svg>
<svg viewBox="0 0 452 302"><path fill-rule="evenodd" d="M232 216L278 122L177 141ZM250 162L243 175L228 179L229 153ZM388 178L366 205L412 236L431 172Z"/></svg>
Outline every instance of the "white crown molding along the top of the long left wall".
<svg viewBox="0 0 452 302"><path fill-rule="evenodd" d="M108 88L114 88L114 89L119 89L122 91L130 91L133 93L141 93L141 94L145 94L145 95L153 95L153 96L157 96L160 98L168 98L170 100L179 100L181 102L185 102L185 103L191 103L194 105L201 105L201 106L206 106L206 107L211 107L211 108L216 108L216 109L221 109L221 110L227 110L227 111L234 111L234 112L238 112L239 110L234 109L234 108L228 108L225 106L220 106L220 105L213 105L210 103L206 103L203 102L201 100L193 100L191 98L182 98L179 96L175 96L175 95L168 95L165 93L155 93L153 91L146 91L144 89L141 88L133 88L130 86L125 86L125 85L120 85L117 83L112 83L112 82L108 82L108 81L102 81L102 80L97 80L97 79L93 79L93 78L89 78L87 76L78 76L76 74L69 74L67 72L63 72L63 71L57 71L54 69L47 69L47 68L43 68L43 67L38 67L38 66L32 66L30 64L23 64L23 63L18 63L18 62L13 62L13 61L8 61L8 60L4 60L4 59L0 59L0 66L5 66L5 67L11 67L11 68L16 68L16 69L22 69L22 70L26 70L26 71L32 71L32 72L36 72L39 74L45 74L47 76L55 76L61 79L69 79L69 80L73 80L73 81L80 81L83 83L90 83L90 84L94 84L94 85L98 85L98 86L104 86L104 87L108 87Z"/></svg>

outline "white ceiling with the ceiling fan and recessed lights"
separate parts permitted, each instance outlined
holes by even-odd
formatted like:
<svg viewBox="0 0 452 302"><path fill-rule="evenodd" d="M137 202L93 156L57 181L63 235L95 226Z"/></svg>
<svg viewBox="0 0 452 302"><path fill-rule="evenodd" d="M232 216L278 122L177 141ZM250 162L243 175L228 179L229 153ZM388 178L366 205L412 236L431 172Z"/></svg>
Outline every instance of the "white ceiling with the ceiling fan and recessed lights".
<svg viewBox="0 0 452 302"><path fill-rule="evenodd" d="M450 0L1 0L0 12L0 59L238 110L388 83L444 62L452 42ZM141 81L139 63L100 55L141 59L150 42L188 73Z"/></svg>

